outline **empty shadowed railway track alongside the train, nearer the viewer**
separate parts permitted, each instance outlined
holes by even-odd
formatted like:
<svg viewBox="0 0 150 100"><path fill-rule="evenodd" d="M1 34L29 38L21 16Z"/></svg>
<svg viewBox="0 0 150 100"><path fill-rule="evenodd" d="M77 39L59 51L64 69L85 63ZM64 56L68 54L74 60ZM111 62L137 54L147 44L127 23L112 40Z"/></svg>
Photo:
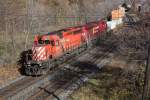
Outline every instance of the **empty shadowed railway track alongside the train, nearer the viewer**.
<svg viewBox="0 0 150 100"><path fill-rule="evenodd" d="M77 61L63 67L63 75L58 75L58 78L51 81L51 84L40 88L28 100L65 100L70 93L110 61L112 49L104 53L100 48L95 48L88 54L79 57Z"/></svg>

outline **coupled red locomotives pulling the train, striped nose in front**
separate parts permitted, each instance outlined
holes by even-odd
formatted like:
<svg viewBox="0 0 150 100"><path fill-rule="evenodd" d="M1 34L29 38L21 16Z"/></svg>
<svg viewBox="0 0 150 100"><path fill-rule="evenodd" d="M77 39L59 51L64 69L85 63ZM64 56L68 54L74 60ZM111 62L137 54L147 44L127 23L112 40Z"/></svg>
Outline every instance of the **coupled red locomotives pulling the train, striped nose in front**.
<svg viewBox="0 0 150 100"><path fill-rule="evenodd" d="M79 53L91 46L91 41L106 30L107 24L101 20L35 36L31 59L27 59L25 63L25 73L46 74L68 55Z"/></svg>

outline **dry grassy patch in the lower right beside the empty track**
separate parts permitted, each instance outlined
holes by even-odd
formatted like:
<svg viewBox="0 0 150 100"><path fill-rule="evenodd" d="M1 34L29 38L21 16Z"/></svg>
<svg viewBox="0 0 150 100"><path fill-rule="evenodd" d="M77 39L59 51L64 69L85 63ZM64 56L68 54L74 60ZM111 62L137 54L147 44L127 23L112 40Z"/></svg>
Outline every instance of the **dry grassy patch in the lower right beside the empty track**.
<svg viewBox="0 0 150 100"><path fill-rule="evenodd" d="M142 71L136 68L140 66L134 65L123 58L114 58L68 100L139 100L143 76ZM131 70L130 66L135 69Z"/></svg>

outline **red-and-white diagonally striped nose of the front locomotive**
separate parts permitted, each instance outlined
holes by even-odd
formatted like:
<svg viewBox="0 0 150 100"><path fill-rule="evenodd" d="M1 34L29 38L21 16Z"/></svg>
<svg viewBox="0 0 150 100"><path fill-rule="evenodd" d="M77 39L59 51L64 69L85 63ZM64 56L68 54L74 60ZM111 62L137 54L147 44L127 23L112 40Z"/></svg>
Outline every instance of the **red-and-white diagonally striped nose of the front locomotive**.
<svg viewBox="0 0 150 100"><path fill-rule="evenodd" d="M33 47L32 48L33 56L32 59L34 61L44 61L47 59L46 57L46 47Z"/></svg>

